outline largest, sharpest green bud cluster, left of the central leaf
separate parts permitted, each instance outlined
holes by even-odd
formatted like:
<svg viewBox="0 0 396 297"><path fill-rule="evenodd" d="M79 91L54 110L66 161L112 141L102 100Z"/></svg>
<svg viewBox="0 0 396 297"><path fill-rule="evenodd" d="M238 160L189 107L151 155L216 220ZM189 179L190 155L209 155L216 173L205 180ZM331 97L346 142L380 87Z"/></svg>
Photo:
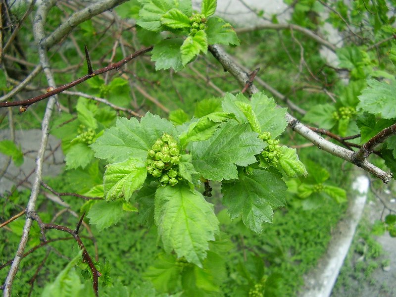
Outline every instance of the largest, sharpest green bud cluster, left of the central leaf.
<svg viewBox="0 0 396 297"><path fill-rule="evenodd" d="M147 172L158 178L162 186L175 186L182 176L179 172L180 149L169 134L162 135L148 150Z"/></svg>

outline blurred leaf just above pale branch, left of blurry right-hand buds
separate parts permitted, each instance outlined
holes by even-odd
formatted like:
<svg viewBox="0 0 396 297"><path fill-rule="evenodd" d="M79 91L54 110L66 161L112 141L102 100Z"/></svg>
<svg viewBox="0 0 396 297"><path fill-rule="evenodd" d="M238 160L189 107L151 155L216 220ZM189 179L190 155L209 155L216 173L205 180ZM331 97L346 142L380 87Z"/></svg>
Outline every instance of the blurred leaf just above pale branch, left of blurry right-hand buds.
<svg viewBox="0 0 396 297"><path fill-rule="evenodd" d="M302 118L303 121L317 125L322 129L331 129L337 123L333 112L337 109L332 104L315 104Z"/></svg>

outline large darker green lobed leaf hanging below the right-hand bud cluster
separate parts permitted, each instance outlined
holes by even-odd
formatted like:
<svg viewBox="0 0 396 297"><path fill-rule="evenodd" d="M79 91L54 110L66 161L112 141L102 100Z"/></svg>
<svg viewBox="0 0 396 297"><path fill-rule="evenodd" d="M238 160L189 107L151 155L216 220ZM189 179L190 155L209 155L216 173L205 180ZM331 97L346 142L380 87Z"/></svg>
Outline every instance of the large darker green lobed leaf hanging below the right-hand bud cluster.
<svg viewBox="0 0 396 297"><path fill-rule="evenodd" d="M238 180L221 188L231 219L242 216L247 228L257 233L263 231L264 222L272 222L272 207L285 205L286 190L279 172L259 168L253 168L251 174L241 169Z"/></svg>

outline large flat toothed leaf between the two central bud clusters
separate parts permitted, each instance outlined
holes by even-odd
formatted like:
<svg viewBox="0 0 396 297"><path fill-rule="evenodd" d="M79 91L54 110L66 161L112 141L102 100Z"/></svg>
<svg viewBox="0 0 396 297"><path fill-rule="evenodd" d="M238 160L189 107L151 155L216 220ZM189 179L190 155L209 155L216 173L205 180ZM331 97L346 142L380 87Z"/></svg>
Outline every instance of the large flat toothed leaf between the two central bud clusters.
<svg viewBox="0 0 396 297"><path fill-rule="evenodd" d="M193 143L194 167L208 180L238 178L237 166L255 163L255 154L264 148L257 133L248 131L248 124L230 120L220 125L214 135L202 142Z"/></svg>

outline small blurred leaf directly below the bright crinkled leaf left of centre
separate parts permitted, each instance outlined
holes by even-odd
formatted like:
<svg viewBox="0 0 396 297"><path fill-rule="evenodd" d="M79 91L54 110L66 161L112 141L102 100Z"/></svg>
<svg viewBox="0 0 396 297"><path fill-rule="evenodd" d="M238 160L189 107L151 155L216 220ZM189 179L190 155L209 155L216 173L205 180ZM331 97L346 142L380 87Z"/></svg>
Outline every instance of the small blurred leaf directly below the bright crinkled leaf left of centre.
<svg viewBox="0 0 396 297"><path fill-rule="evenodd" d="M96 202L87 214L90 224L96 225L98 231L102 231L117 224L125 215L122 209L122 201L104 201Z"/></svg>

